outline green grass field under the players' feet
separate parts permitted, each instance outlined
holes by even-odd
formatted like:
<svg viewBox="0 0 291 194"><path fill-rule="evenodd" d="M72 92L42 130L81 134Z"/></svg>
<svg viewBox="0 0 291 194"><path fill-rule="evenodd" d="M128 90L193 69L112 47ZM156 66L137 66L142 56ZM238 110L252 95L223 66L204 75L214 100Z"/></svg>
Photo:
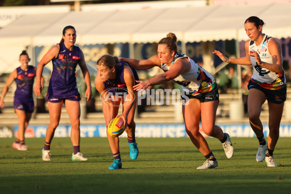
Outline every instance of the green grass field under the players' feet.
<svg viewBox="0 0 291 194"><path fill-rule="evenodd" d="M189 138L139 138L136 161L127 139L120 139L122 169L108 170L112 153L106 138L82 138L89 161L71 161L70 138L54 138L51 162L43 162L44 138L26 139L28 151L0 139L1 194L289 194L291 138L279 138L274 156L279 167L256 161L256 138L232 138L234 156L227 159L217 139L207 138L218 160L216 169L197 170L205 158Z"/></svg>

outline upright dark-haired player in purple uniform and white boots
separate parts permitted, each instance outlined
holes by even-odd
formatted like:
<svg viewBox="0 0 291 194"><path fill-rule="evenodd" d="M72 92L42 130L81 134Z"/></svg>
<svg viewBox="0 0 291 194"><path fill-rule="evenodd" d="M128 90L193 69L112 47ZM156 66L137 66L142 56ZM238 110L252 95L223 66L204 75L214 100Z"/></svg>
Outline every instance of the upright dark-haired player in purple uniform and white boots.
<svg viewBox="0 0 291 194"><path fill-rule="evenodd" d="M47 92L50 122L46 132L45 145L42 151L43 161L50 161L50 144L55 129L59 125L63 104L69 115L71 128L71 141L74 153L73 161L86 161L80 152L80 94L76 84L76 67L79 64L87 85L85 97L87 101L92 96L90 75L81 49L74 46L76 42L76 30L73 26L66 26L63 30L61 42L53 46L41 59L36 69L36 84L34 93L41 95L40 78L43 68L52 61L52 74Z"/></svg>

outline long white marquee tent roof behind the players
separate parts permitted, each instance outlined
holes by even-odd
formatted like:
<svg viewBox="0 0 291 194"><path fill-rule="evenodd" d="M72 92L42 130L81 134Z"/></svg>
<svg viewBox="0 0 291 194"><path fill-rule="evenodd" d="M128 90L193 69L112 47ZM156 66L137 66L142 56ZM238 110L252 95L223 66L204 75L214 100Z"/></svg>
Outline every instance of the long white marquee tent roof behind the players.
<svg viewBox="0 0 291 194"><path fill-rule="evenodd" d="M174 32L183 50L187 42L247 40L243 23L249 16L264 20L266 34L291 37L290 10L291 3L273 3L24 15L0 29L0 74L9 73L19 65L21 50L29 48L33 55L35 46L58 43L66 25L76 28L80 46L158 42L168 32ZM130 56L132 53L131 50Z"/></svg>

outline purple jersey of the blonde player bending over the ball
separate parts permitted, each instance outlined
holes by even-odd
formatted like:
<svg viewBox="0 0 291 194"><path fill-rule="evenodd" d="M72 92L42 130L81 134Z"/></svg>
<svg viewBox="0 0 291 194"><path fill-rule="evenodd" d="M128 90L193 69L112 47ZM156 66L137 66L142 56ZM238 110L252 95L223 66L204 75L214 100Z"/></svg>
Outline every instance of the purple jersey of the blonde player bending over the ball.
<svg viewBox="0 0 291 194"><path fill-rule="evenodd" d="M110 89L110 88L114 88L114 91L115 92L124 92L124 89L127 90L127 87L126 87L126 83L124 81L124 65L128 65L127 62L125 61L122 61L120 62L121 65L116 67L116 77L114 80L107 80L107 81L103 81L104 83L104 86L107 88L107 89ZM130 65L128 65L134 75L134 80L137 81L139 80L138 78L138 75L135 71L135 69L133 69ZM120 90L119 90L120 88ZM111 90L112 91L112 90Z"/></svg>

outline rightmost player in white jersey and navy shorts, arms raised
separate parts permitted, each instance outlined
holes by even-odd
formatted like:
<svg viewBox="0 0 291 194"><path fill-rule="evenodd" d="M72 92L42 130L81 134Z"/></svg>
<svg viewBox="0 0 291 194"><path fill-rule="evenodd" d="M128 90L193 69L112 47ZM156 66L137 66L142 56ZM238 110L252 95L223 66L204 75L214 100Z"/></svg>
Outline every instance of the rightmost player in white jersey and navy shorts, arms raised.
<svg viewBox="0 0 291 194"><path fill-rule="evenodd" d="M244 22L244 30L250 38L244 44L246 56L229 59L215 50L220 59L226 63L253 65L254 73L249 81L248 116L249 122L258 140L259 149L256 160L264 159L267 166L276 167L273 151L279 138L280 122L286 100L286 79L282 65L282 51L278 41L262 32L264 22L257 16L251 16ZM259 118L261 107L268 100L269 137L266 142L263 125ZM267 153L265 154L267 150Z"/></svg>

